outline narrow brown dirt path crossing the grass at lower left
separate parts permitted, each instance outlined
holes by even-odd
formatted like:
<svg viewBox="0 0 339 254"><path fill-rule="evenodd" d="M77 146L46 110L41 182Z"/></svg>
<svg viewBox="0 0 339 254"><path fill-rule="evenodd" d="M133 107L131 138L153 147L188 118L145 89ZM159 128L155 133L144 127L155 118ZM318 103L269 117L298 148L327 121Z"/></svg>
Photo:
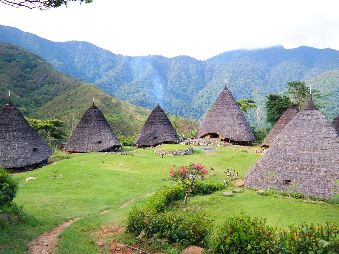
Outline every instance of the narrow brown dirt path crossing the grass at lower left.
<svg viewBox="0 0 339 254"><path fill-rule="evenodd" d="M154 193L154 192L153 192ZM146 194L142 197L152 195L153 193ZM131 199L128 202L124 203L119 208L126 206L127 204L133 202L135 199ZM112 209L108 209L105 211L100 212L100 214L107 213L112 211ZM66 228L67 226L71 225L74 221L79 220L80 217L75 218L73 220L69 220L62 225L57 226L54 230L43 233L38 237L36 241L29 242L28 245L28 253L30 254L54 254L55 247L57 246L57 236L61 233L61 231Z"/></svg>

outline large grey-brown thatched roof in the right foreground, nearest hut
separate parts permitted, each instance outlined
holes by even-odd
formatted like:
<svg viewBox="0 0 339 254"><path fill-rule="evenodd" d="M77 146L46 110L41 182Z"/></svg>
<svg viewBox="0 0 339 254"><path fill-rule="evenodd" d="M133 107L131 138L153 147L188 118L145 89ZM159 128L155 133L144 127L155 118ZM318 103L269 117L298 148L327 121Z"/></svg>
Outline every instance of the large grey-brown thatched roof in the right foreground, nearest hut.
<svg viewBox="0 0 339 254"><path fill-rule="evenodd" d="M263 181L267 171L276 176ZM300 188L296 192L333 196L335 181L339 180L339 133L314 106L311 95L309 103L248 169L244 180L249 188L278 187L286 191L286 186L297 184Z"/></svg>

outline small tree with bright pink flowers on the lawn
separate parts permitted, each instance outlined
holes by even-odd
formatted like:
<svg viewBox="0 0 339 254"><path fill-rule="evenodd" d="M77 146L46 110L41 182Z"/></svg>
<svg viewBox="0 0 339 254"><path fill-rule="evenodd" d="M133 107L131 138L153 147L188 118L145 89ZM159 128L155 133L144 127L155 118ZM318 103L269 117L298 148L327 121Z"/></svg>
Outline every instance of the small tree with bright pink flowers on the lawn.
<svg viewBox="0 0 339 254"><path fill-rule="evenodd" d="M194 184L197 182L196 177L201 176L204 177L208 174L207 170L205 169L204 165L195 164L193 161L184 167L177 167L173 165L173 168L169 169L169 180L181 182L184 185L190 187L190 190L186 190L186 196L184 199L184 204L187 205L187 197L190 195L194 190Z"/></svg>

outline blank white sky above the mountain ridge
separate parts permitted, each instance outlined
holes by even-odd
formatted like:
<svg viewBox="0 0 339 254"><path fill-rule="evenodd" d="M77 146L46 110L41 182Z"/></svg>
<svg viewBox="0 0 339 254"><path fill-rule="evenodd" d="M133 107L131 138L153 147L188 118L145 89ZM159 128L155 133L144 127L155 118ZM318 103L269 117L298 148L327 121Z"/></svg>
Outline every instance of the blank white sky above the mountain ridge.
<svg viewBox="0 0 339 254"><path fill-rule="evenodd" d="M339 50L339 1L94 0L45 11L0 3L0 24L115 54L188 55L305 45Z"/></svg>

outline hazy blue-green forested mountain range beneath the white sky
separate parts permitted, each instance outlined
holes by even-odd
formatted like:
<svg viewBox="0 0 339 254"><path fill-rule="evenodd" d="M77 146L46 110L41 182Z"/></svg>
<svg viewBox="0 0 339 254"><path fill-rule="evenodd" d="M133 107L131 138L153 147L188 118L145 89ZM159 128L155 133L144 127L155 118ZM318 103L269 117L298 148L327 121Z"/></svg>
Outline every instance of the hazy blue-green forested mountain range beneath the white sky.
<svg viewBox="0 0 339 254"><path fill-rule="evenodd" d="M279 45L224 52L205 61L188 56L131 57L113 54L88 42L52 42L1 25L0 41L32 51L57 70L92 83L123 101L153 109L159 100L165 111L196 121L201 121L211 108L225 78L236 100L252 98L259 103L261 123L265 115L264 96L282 92L286 81L306 81L317 90L336 94L339 80L334 71L339 70L339 51L332 49L284 49ZM326 87L329 80L331 86ZM328 97L327 102L323 111L332 120L339 114L334 106L338 97ZM250 110L247 119L251 125L257 125L255 109Z"/></svg>

